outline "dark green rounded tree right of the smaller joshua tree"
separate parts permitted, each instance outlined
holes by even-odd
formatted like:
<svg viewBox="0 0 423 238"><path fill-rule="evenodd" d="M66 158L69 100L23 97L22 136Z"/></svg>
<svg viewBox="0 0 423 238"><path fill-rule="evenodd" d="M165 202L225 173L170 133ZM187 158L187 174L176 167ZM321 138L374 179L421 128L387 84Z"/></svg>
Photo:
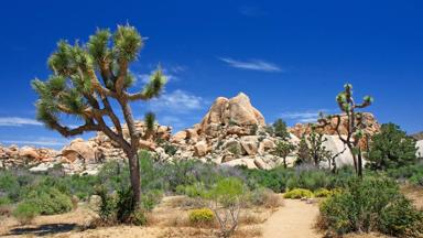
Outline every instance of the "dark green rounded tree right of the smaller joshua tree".
<svg viewBox="0 0 423 238"><path fill-rule="evenodd" d="M415 140L406 136L394 123L382 125L381 131L371 138L367 154L368 166L372 170L387 170L416 163Z"/></svg>

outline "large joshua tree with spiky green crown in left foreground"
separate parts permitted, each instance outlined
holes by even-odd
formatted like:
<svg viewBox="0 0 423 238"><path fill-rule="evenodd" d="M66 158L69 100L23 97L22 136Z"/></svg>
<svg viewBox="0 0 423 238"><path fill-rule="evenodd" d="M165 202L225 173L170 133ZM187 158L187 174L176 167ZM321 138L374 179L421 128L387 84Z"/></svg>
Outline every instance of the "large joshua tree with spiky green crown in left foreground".
<svg viewBox="0 0 423 238"><path fill-rule="evenodd" d="M36 118L47 128L66 138L102 131L122 148L129 161L135 204L141 195L137 152L142 134L134 126L130 102L159 96L166 82L159 67L140 91L128 91L134 83L129 65L137 60L142 46L140 33L130 25L118 25L113 33L97 30L86 44L59 41L48 58L52 71L48 79L32 80L39 94ZM77 118L82 126L65 126L65 116ZM121 118L127 123L129 138L123 137ZM151 118L148 113L150 123Z"/></svg>

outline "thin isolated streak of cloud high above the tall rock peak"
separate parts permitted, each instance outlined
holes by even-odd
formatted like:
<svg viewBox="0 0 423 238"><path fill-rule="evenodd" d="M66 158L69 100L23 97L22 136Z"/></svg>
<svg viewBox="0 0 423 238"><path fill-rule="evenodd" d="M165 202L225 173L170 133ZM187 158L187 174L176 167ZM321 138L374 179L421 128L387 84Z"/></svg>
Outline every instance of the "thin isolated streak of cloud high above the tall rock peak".
<svg viewBox="0 0 423 238"><path fill-rule="evenodd" d="M262 60L237 61L230 57L219 57L219 60L236 68L261 72L283 72L280 66Z"/></svg>

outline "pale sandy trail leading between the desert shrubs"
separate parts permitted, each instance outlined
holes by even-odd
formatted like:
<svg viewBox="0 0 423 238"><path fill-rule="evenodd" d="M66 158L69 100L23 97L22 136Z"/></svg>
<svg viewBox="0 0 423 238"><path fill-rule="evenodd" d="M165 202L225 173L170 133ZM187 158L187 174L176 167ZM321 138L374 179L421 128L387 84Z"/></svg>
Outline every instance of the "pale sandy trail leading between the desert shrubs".
<svg viewBox="0 0 423 238"><path fill-rule="evenodd" d="M297 199L285 199L284 206L272 214L263 225L264 238L322 237L313 229L318 215L317 205Z"/></svg>

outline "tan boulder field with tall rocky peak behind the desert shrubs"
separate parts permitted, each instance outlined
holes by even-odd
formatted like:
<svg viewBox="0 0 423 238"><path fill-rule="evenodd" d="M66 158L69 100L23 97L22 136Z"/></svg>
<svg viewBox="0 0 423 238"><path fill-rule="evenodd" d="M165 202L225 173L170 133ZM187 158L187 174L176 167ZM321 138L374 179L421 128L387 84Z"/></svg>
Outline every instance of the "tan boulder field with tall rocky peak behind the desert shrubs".
<svg viewBox="0 0 423 238"><path fill-rule="evenodd" d="M346 117L340 115L340 131L345 133ZM368 125L368 134L379 132L380 125L373 115L366 112L364 118ZM344 150L344 144L334 130L335 125L336 121L332 120L321 129L326 138L324 145L334 154ZM142 121L138 121L135 127L144 134L147 127ZM297 144L299 138L310 134L311 128L312 125L300 123L289 128L289 140ZM129 138L126 126L123 134ZM154 158L161 161L197 159L228 166L245 165L269 170L282 163L281 158L273 155L276 141L278 138L268 132L262 113L251 105L246 94L240 93L234 98L216 98L199 123L174 134L171 127L156 123L153 132L140 141L140 149L153 152ZM367 141L361 144L367 145L366 143ZM417 145L423 154L422 141ZM61 163L68 174L94 174L105 161L124 158L123 151L102 132L88 140L75 139L61 151L0 145L0 169L30 165L32 171L46 171ZM288 156L289 164L295 159L293 152ZM351 164L350 152L346 150L340 153L336 163L338 166Z"/></svg>

